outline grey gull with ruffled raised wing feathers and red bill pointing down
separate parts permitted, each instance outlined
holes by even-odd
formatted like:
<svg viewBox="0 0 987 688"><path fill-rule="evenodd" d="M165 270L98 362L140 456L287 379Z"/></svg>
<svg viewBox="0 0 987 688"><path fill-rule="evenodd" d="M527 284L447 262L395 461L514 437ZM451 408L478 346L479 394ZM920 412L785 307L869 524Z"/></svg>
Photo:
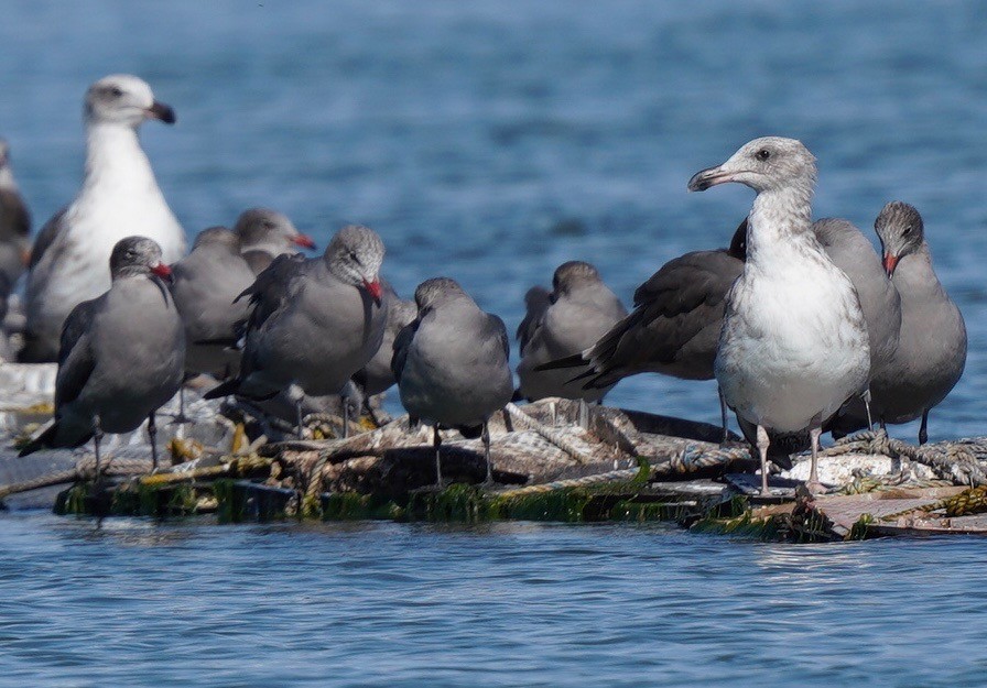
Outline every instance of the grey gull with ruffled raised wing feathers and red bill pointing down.
<svg viewBox="0 0 987 688"><path fill-rule="evenodd" d="M321 258L275 259L238 297L249 296L252 306L240 373L206 398L264 400L288 391L301 433L303 396L341 393L380 348L388 317L378 277L383 253L377 232L348 226Z"/></svg>

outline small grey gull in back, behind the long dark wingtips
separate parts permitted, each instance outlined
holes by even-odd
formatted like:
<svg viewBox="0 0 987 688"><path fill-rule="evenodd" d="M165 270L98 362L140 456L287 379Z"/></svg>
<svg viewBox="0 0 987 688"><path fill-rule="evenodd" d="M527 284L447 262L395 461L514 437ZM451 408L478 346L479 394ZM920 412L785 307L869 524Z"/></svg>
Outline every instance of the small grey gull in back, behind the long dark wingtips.
<svg viewBox="0 0 987 688"><path fill-rule="evenodd" d="M546 396L601 400L612 384L586 385L584 380L574 379L586 372L589 364L538 369L543 363L582 353L627 316L627 309L604 284L596 267L582 261L563 263L553 275L552 292L533 287L525 304L528 313L517 332L521 395L530 401Z"/></svg>

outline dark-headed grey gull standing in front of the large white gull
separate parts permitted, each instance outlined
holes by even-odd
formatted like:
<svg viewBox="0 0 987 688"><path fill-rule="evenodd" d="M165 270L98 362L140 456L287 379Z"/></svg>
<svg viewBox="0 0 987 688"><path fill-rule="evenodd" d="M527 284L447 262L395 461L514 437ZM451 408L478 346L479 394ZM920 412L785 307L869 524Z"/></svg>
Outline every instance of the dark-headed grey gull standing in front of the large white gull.
<svg viewBox="0 0 987 688"><path fill-rule="evenodd" d="M182 384L185 331L162 280L171 270L145 237L120 240L110 288L65 319L55 378L55 417L21 450L78 447L94 439L96 476L104 433L130 433L147 418L158 469L154 414Z"/></svg>

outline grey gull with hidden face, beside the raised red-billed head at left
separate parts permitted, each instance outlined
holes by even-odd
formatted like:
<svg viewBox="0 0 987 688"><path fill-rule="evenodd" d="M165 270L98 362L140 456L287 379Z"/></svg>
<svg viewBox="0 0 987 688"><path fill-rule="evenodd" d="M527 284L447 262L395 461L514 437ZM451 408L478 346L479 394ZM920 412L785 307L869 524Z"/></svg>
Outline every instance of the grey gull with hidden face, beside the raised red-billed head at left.
<svg viewBox="0 0 987 688"><path fill-rule="evenodd" d="M232 345L249 306L246 299L235 299L254 280L240 254L239 238L225 227L203 230L172 273L172 296L185 325L186 371L216 378L236 374L240 352Z"/></svg>

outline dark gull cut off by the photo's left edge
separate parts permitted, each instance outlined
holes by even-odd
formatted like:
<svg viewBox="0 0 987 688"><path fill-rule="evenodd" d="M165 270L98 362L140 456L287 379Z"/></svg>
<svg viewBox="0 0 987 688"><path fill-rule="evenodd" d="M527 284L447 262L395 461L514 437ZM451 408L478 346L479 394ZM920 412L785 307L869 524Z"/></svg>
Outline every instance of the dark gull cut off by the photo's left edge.
<svg viewBox="0 0 987 688"><path fill-rule="evenodd" d="M0 320L7 299L24 273L31 245L31 212L10 167L10 146L0 139Z"/></svg>

